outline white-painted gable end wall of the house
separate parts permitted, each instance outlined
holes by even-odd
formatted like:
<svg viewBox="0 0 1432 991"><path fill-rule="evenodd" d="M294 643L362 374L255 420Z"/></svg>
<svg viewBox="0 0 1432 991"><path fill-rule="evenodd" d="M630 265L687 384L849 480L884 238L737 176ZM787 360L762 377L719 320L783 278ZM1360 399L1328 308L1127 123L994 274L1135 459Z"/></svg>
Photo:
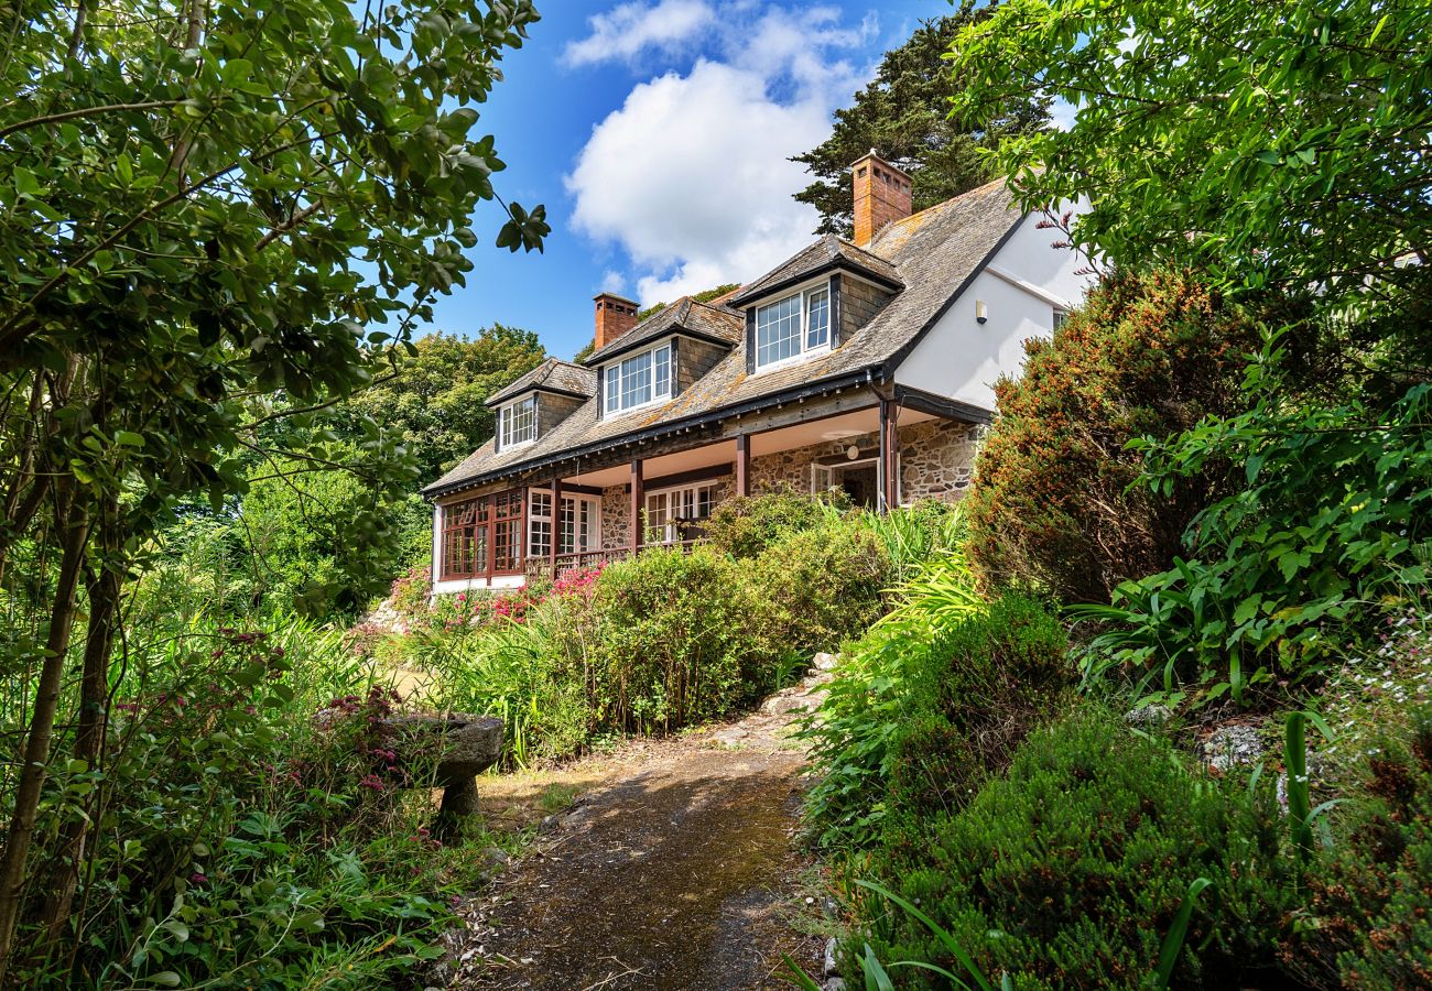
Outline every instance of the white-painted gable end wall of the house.
<svg viewBox="0 0 1432 991"><path fill-rule="evenodd" d="M899 385L944 395L994 411L994 384L1017 375L1024 342L1054 332L1054 308L1073 309L1084 299L1093 276L1077 275L1088 265L1081 252L1053 248L1061 232L1038 229L1038 215L1018 229L945 311L915 349L895 369ZM975 304L987 321L975 319Z"/></svg>

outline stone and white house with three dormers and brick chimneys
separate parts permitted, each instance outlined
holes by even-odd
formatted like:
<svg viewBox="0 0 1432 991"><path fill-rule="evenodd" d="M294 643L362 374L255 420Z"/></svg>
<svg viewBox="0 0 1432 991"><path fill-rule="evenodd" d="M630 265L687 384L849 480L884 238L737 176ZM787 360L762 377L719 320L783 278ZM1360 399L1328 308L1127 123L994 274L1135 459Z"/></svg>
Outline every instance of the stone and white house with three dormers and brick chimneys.
<svg viewBox="0 0 1432 991"><path fill-rule="evenodd" d="M497 435L424 490L435 593L687 541L737 493L964 493L995 380L1078 302L1085 262L1004 182L912 215L905 172L874 152L852 169L853 242L642 321L603 292L586 361L488 400Z"/></svg>

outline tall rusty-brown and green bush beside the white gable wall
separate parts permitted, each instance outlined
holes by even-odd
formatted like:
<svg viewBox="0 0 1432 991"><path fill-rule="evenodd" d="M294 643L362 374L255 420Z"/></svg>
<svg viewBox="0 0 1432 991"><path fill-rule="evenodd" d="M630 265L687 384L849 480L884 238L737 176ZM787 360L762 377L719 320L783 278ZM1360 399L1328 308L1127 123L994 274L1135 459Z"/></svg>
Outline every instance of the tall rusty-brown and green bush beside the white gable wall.
<svg viewBox="0 0 1432 991"><path fill-rule="evenodd" d="M1107 601L1120 581L1167 569L1227 467L1211 460L1153 493L1134 484L1143 454L1128 443L1242 410L1256 344L1252 321L1189 272L1121 272L1053 341L1025 342L1024 374L995 387L1000 415L965 501L985 580Z"/></svg>

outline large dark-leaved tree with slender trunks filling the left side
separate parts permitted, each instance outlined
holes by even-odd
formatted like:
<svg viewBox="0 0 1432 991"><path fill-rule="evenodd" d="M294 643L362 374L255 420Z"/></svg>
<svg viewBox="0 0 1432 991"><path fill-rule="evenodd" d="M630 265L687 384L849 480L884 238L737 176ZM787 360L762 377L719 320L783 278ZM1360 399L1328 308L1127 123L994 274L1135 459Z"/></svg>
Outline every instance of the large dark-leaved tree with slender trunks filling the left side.
<svg viewBox="0 0 1432 991"><path fill-rule="evenodd" d="M0 856L0 984L21 918L53 944L72 914L87 816L64 825L47 884L26 884L30 839L54 745L100 755L136 554L178 498L218 510L242 493L245 458L275 457L266 425L367 384L374 348L463 284L468 219L503 168L473 105L536 20L530 0L0 13L0 579L17 541L54 548L39 642L4 659L33 702ZM513 203L497 242L547 232L543 208ZM282 454L339 467L326 444ZM362 448L408 484L401 451ZM56 740L72 680L77 717Z"/></svg>

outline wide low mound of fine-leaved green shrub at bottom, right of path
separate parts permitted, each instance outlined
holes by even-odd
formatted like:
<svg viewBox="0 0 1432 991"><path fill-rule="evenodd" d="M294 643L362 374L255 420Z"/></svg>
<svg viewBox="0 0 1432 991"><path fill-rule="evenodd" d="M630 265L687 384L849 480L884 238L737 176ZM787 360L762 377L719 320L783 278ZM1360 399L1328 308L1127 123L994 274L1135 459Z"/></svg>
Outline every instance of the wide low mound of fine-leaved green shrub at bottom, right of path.
<svg viewBox="0 0 1432 991"><path fill-rule="evenodd" d="M927 823L927 849L882 868L981 971L1021 988L1147 987L1190 882L1207 878L1173 984L1244 987L1274 965L1293 864L1273 803L1246 795L1085 710L1034 732L1005 778ZM924 924L875 901L859 911L881 959L959 970ZM939 987L904 974L904 987Z"/></svg>

